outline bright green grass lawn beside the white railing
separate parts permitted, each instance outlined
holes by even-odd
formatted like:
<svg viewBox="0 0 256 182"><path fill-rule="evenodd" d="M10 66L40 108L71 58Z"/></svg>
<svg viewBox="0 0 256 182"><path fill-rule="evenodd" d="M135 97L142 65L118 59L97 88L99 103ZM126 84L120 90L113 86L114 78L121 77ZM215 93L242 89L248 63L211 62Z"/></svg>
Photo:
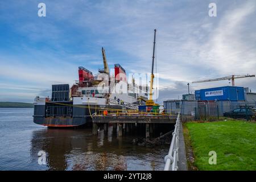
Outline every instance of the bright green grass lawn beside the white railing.
<svg viewBox="0 0 256 182"><path fill-rule="evenodd" d="M195 162L199 170L256 170L256 123L245 121L188 122ZM209 151L217 164L210 165Z"/></svg>

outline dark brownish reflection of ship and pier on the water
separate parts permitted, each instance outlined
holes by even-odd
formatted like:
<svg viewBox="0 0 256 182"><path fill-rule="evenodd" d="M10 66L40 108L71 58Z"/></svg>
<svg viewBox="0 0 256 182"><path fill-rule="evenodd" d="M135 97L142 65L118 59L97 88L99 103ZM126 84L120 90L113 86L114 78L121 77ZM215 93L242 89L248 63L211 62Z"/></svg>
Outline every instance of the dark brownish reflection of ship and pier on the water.
<svg viewBox="0 0 256 182"><path fill-rule="evenodd" d="M168 146L133 146L134 136L117 137L110 126L108 134L97 136L91 129L42 129L32 132L31 159L40 150L47 153L48 170L162 170Z"/></svg>

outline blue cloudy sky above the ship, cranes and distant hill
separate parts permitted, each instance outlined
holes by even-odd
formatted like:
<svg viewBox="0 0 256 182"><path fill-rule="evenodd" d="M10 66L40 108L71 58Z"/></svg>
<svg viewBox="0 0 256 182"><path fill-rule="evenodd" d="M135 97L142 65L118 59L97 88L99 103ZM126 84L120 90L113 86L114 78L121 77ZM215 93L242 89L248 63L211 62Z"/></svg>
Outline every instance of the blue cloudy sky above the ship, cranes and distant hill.
<svg viewBox="0 0 256 182"><path fill-rule="evenodd" d="M38 3L46 3L46 17ZM217 16L208 15L209 3ZM194 80L256 72L256 1L1 1L0 101L32 102L51 84L121 64L129 73L151 70L156 33L159 102L187 93ZM256 92L256 78L235 80ZM191 84L191 91L231 85Z"/></svg>

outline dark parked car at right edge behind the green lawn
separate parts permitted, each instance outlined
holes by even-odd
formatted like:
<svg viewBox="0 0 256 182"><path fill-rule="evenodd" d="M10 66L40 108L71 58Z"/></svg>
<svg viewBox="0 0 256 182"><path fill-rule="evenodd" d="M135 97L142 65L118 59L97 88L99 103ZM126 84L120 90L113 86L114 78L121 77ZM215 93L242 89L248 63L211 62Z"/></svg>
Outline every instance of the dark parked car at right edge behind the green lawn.
<svg viewBox="0 0 256 182"><path fill-rule="evenodd" d="M224 117L229 117L229 118L243 118L246 119L246 107L241 106L238 107L232 111L223 113ZM251 107L247 107L247 118L248 119L255 119L256 116L256 110Z"/></svg>

